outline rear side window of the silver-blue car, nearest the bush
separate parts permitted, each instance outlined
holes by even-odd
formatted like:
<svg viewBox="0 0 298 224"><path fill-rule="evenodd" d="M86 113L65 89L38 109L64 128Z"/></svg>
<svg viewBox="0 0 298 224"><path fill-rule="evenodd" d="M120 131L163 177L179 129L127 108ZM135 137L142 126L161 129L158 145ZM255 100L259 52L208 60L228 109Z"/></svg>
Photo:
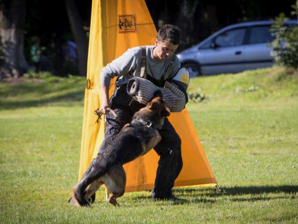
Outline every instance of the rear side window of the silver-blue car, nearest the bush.
<svg viewBox="0 0 298 224"><path fill-rule="evenodd" d="M269 25L253 26L249 37L249 43L266 43L272 42L274 36L270 32Z"/></svg>

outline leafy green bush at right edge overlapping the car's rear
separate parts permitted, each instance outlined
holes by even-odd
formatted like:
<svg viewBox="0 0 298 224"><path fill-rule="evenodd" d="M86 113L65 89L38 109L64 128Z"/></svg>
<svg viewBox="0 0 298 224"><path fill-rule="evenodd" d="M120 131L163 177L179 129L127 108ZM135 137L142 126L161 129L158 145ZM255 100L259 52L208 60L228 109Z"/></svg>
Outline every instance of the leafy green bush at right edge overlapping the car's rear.
<svg viewBox="0 0 298 224"><path fill-rule="evenodd" d="M295 11L292 13L298 16L298 0L296 5L292 6ZM270 44L273 47L272 55L277 63L286 66L298 68L298 26L286 26L285 21L288 18L281 13L276 18L276 23L272 25L271 32L276 39Z"/></svg>

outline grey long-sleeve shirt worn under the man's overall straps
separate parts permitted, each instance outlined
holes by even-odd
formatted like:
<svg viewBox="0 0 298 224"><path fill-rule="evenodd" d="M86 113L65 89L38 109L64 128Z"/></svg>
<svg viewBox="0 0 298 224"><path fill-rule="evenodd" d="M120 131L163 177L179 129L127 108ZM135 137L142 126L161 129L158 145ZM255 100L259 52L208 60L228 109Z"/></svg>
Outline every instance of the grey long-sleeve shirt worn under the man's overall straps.
<svg viewBox="0 0 298 224"><path fill-rule="evenodd" d="M146 46L146 73L153 78L159 80L165 74L165 71L171 61L171 57L176 57L170 76L173 76L180 68L179 59L175 54L166 60L156 60L153 57L154 45ZM141 72L141 47L133 47L127 49L120 57L108 63L101 70L100 84L109 85L111 78L115 75L119 76L117 85L121 86L128 82L128 79L134 76L140 76Z"/></svg>

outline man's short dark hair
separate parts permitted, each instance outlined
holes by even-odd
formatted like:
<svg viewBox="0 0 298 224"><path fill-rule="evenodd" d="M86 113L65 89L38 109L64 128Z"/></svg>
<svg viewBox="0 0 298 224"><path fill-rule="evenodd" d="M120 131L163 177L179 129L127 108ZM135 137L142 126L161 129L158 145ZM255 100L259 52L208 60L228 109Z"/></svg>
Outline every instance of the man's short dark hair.
<svg viewBox="0 0 298 224"><path fill-rule="evenodd" d="M180 28L176 25L166 24L160 27L157 33L157 40L168 40L174 45L180 43L181 32Z"/></svg>

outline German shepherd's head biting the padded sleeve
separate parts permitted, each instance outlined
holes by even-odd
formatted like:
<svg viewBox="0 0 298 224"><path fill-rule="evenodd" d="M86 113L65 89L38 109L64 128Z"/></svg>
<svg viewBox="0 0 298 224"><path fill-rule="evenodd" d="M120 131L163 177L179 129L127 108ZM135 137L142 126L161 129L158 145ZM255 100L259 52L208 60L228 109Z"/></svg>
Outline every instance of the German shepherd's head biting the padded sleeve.
<svg viewBox="0 0 298 224"><path fill-rule="evenodd" d="M149 121L154 128L161 129L164 123L164 118L169 115L170 109L166 106L161 92L157 92L155 93L154 98L148 102L145 107L135 113L134 117Z"/></svg>

